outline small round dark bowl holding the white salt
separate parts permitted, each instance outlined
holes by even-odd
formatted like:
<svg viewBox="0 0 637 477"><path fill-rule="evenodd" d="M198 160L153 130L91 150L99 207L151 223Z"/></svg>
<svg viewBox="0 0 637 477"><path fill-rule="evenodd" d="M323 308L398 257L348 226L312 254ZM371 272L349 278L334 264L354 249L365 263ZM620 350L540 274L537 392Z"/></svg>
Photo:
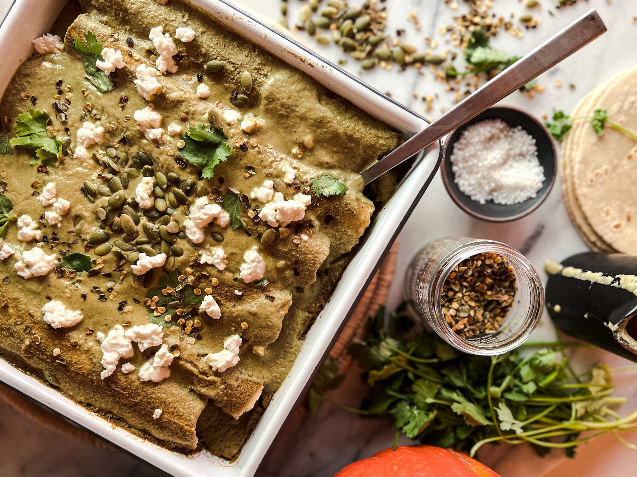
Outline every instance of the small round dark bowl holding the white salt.
<svg viewBox="0 0 637 477"><path fill-rule="evenodd" d="M544 184L534 198L529 198L520 204L503 205L496 204L492 200L486 204L480 204L476 200L462 193L454 181L454 171L452 170L450 157L454 152L454 144L462 132L470 125L487 119L501 119L511 127L521 126L527 133L535 139L538 148L538 160L544 168ZM547 198L548 193L555 182L557 172L557 152L553 137L547 128L530 114L521 109L508 106L496 106L485 109L472 120L467 121L461 127L450 133L445 140L445 154L442 165L442 179L450 197L463 211L469 215L490 222L508 222L522 218L540 207L540 204Z"/></svg>

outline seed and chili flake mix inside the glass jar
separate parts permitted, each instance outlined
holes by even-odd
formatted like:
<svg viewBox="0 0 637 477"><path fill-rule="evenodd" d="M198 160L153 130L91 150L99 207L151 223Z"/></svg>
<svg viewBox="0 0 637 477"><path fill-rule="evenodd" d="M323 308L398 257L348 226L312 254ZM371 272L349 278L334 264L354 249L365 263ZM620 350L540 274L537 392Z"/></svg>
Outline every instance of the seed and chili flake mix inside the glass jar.
<svg viewBox="0 0 637 477"><path fill-rule="evenodd" d="M461 261L449 273L441 308L452 331L462 338L495 333L513 306L518 287L506 258L480 253Z"/></svg>

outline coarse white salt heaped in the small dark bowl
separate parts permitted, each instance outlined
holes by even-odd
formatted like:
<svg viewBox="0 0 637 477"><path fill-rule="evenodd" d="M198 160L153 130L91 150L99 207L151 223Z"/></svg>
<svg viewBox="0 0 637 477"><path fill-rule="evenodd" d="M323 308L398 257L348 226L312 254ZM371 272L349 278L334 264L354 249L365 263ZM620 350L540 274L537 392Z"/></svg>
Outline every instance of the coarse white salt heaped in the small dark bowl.
<svg viewBox="0 0 637 477"><path fill-rule="evenodd" d="M536 197L545 180L535 139L499 119L466 128L450 160L459 189L480 204L519 204Z"/></svg>

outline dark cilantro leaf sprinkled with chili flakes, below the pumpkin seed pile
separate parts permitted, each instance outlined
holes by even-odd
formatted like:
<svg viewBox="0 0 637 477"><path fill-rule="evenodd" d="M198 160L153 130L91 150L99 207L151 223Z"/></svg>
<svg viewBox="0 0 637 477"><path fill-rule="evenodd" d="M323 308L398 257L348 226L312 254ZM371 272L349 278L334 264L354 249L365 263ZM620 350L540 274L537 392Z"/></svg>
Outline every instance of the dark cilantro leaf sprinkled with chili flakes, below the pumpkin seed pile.
<svg viewBox="0 0 637 477"><path fill-rule="evenodd" d="M189 305L195 305L198 307L203 301L203 296L195 294L194 289L190 286L187 280L183 280L183 282L179 281L179 275L180 272L173 270L168 275L162 276L159 279L157 286L149 289L146 294L146 298L148 298L151 303L155 303L154 308L147 305L148 319L159 326L164 326L164 328L170 328L177 324L177 319L179 317L177 314L178 308L185 309ZM164 295L162 290L166 289L172 289L172 291L169 291ZM155 296L159 298L159 301L152 301ZM169 306L170 303L174 302L178 302L179 305L173 305L172 307ZM155 315L157 307L164 307L166 308L166 311ZM166 321L166 315L171 315L173 319L171 321Z"/></svg>

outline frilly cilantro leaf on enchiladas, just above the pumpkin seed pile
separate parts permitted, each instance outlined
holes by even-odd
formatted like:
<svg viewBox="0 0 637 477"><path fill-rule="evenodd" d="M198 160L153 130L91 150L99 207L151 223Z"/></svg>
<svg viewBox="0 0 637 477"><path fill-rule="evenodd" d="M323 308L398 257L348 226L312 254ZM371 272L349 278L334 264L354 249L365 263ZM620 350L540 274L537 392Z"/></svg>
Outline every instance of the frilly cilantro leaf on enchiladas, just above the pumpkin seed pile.
<svg viewBox="0 0 637 477"><path fill-rule="evenodd" d="M223 128L215 127L208 131L203 124L197 123L187 130L182 140L186 144L179 151L180 157L201 168L205 179L212 179L215 165L227 161L231 155L230 147L225 144L228 138L225 137Z"/></svg>

